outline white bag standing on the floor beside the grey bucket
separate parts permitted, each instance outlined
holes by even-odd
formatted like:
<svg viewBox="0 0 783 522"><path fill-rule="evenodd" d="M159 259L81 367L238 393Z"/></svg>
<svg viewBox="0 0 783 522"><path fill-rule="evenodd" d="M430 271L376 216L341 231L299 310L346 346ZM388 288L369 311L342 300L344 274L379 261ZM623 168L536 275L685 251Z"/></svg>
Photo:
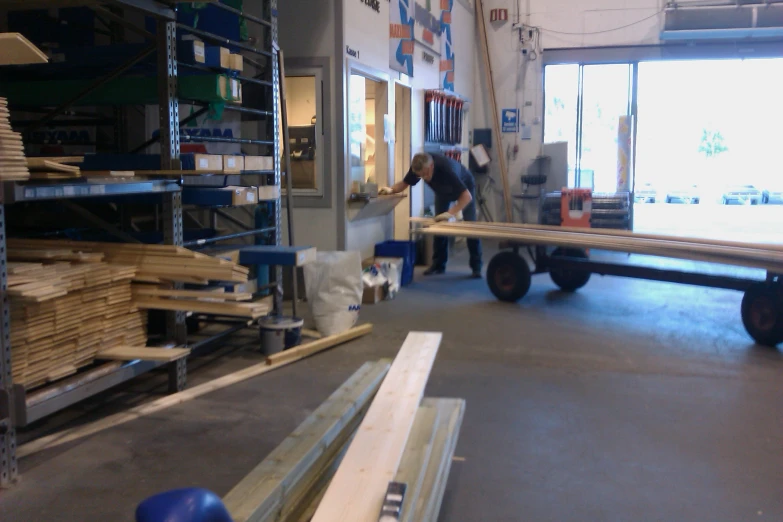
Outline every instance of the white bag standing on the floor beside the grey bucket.
<svg viewBox="0 0 783 522"><path fill-rule="evenodd" d="M356 324L362 303L359 252L318 252L304 266L305 288L315 326L322 335L342 333Z"/></svg>

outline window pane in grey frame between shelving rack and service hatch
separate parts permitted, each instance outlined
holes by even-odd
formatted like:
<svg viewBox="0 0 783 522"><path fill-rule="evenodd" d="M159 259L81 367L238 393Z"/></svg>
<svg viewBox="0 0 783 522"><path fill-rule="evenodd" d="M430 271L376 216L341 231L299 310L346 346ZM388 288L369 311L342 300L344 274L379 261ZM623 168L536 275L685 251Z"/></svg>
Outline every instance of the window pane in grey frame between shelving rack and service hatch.
<svg viewBox="0 0 783 522"><path fill-rule="evenodd" d="M320 70L286 71L291 185L295 195L323 194L322 84ZM283 173L283 187L286 186L285 175Z"/></svg>

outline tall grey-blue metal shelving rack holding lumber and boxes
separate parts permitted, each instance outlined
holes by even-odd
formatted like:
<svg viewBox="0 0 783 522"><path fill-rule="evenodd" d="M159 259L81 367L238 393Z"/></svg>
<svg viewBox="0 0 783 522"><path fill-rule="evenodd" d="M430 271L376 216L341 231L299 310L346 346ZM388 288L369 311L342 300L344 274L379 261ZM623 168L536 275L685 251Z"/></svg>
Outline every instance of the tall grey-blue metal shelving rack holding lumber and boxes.
<svg viewBox="0 0 783 522"><path fill-rule="evenodd" d="M177 29L176 1L160 0L110 0L108 3L116 7L140 11L146 16L152 16L157 20L156 50L158 70L158 99L160 106L160 150L161 168L180 168L180 121L179 100L177 98ZM236 110L242 113L253 114L267 119L268 135L273 135L273 140L234 140L236 143L249 143L261 145L271 149L274 156L274 170L257 172L254 174L265 177L266 184L280 185L280 136L278 132L279 115L279 78L277 54L273 51L277 42L277 0L264 0L263 16L261 18L248 15L223 4L219 8L232 11L245 19L259 23L268 28L268 38L265 40L266 49L257 49L241 42L226 42L221 37L210 35L209 38L219 39L249 53L257 53L267 56L271 60L271 71L267 70L267 78L240 77L240 81L263 85L271 91L267 98L270 110L262 111L244 107L232 107L227 105L227 110ZM4 3L4 10L12 9L38 9L56 7L88 6L101 10L106 15L107 11L95 2L88 0L8 0ZM127 22L123 21L127 27ZM180 26L183 30L187 27ZM191 30L191 32L195 32ZM203 33L203 32L202 32ZM202 34L203 36L203 34ZM247 63L263 68L255 60L244 57ZM120 66L111 74L121 74L127 70L127 64ZM266 68L268 69L268 68ZM271 72L271 74L269 74ZM106 77L99 79L95 85L106 81ZM74 100L78 101L78 100ZM58 108L62 110L61 108ZM206 111L206 108L203 109ZM271 118L269 118L271 116ZM45 116L46 118L46 116ZM189 118L193 118L191 115ZM183 120L186 123L188 119ZM156 140L151 140L135 152L146 148ZM210 141L216 141L215 139ZM229 138L217 141L232 141ZM214 176L223 178L224 183L237 181L235 175ZM132 361L128 363L106 363L88 371L76 374L70 378L58 381L53 385L37 389L33 393L27 393L23 386L14 384L11 378L11 346L10 346L10 304L7 294L8 271L6 266L6 205L44 200L67 200L74 198L107 198L107 197L150 197L155 195L162 200L163 236L166 244L183 245L183 208L182 189L185 185L209 184L212 176L205 176L206 183L199 183L200 178L181 177L180 179L164 180L74 180L54 183L41 182L0 182L0 306L2 306L2 320L0 320L0 488L12 485L18 476L16 462L16 428L25 426L29 422L40 419L62 408L72 405L86 397L95 395L112 386L132 379L142 373L160 367L162 364L150 361ZM190 182L190 183L188 183ZM274 202L274 226L265 229L265 232L273 232L273 243L280 244L280 199ZM259 231L254 231L256 234ZM246 234L251 235L251 234ZM220 238L213 238L210 242L233 239L236 234L229 234ZM282 306L282 269L276 268L274 274L275 309ZM226 322L215 321L219 324ZM199 349L215 340L230 335L247 327L247 322L228 322L228 327L207 339L192 344L194 350ZM166 334L170 342L176 344L187 343L187 329L185 326L185 314L183 312L169 312L167 314ZM169 390L179 391L184 388L187 379L186 360L180 359L170 363Z"/></svg>

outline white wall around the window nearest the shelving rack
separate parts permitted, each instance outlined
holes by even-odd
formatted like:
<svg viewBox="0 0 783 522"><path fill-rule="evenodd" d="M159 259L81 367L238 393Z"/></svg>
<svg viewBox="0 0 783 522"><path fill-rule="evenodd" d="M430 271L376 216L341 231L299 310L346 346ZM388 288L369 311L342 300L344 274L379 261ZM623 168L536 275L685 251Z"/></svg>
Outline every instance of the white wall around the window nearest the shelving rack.
<svg viewBox="0 0 783 522"><path fill-rule="evenodd" d="M331 92L334 96L329 103L331 126L326 131L334 137L332 144L335 152L342 128L342 117L338 114L336 103L336 97L342 91L342 56L335 59L336 42L342 34L342 20L339 21L340 27L336 23L338 7L335 4L339 1L285 0L278 3L280 47L285 52L286 60L313 57L330 60ZM329 208L294 208L297 244L315 246L319 250L342 248L345 236L342 211L338 207L338 201L342 205L343 199L343 174L338 168L341 164L338 154L332 153L330 163L324 166L325 179L332 185Z"/></svg>

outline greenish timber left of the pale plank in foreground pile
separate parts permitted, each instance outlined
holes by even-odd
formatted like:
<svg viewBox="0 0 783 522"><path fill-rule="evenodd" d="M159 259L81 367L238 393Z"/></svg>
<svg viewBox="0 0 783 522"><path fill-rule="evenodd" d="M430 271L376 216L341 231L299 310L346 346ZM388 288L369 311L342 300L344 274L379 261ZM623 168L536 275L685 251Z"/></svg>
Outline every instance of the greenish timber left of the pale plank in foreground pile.
<svg viewBox="0 0 783 522"><path fill-rule="evenodd" d="M389 370L365 363L272 453L223 498L234 522L259 522L290 500L293 490L326 463L329 450L347 438L351 421L365 410Z"/></svg>

